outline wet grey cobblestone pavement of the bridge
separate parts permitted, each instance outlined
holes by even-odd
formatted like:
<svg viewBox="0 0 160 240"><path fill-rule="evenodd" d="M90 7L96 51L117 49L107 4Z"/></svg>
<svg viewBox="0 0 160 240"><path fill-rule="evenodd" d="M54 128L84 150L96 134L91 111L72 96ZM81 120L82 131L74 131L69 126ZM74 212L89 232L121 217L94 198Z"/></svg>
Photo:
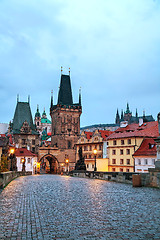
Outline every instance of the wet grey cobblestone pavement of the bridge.
<svg viewBox="0 0 160 240"><path fill-rule="evenodd" d="M160 239L160 190L58 175L0 193L0 239Z"/></svg>

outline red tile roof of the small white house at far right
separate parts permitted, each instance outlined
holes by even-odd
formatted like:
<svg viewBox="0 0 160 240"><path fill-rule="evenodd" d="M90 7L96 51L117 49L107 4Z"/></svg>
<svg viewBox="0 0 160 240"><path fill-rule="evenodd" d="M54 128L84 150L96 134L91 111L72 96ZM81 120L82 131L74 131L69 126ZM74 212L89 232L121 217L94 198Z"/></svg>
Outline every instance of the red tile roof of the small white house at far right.
<svg viewBox="0 0 160 240"><path fill-rule="evenodd" d="M155 156L157 154L156 143L153 138L145 138L133 156Z"/></svg>

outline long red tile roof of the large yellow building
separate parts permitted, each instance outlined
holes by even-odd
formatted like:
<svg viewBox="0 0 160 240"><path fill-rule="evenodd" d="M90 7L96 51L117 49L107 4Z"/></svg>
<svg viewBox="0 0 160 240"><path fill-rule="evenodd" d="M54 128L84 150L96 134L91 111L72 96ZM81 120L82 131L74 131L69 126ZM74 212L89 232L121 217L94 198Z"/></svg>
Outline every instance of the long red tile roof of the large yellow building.
<svg viewBox="0 0 160 240"><path fill-rule="evenodd" d="M113 134L111 134L108 139L115 138L128 138L128 137L158 137L158 122L147 122L139 126L137 123L129 124L128 126L122 128L119 127Z"/></svg>

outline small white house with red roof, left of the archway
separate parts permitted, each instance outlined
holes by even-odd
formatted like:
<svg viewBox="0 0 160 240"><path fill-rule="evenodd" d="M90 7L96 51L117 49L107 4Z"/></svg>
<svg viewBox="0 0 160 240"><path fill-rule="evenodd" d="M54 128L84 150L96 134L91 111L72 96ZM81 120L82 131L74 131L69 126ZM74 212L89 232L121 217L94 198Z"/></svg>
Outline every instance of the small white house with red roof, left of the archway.
<svg viewBox="0 0 160 240"><path fill-rule="evenodd" d="M17 148L15 150L17 158L17 171L22 171L23 162L25 161L25 171L35 173L37 165L37 155L30 152L26 148Z"/></svg>

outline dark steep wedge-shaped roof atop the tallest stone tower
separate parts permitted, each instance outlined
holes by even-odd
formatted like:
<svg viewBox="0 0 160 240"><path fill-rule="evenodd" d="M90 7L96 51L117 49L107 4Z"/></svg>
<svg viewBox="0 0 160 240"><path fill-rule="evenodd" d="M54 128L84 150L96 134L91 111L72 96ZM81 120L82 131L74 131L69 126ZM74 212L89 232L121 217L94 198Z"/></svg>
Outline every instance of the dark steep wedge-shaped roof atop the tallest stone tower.
<svg viewBox="0 0 160 240"><path fill-rule="evenodd" d="M73 105L71 81L69 75L61 75L57 104Z"/></svg>

